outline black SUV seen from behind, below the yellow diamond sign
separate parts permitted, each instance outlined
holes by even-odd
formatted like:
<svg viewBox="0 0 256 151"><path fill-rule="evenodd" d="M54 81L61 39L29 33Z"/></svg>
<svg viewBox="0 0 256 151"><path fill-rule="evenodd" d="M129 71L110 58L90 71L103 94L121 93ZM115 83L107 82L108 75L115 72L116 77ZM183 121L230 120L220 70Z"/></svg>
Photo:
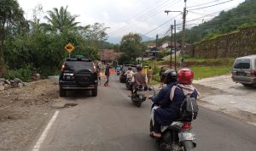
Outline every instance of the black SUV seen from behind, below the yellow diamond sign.
<svg viewBox="0 0 256 151"><path fill-rule="evenodd" d="M91 90L96 97L97 79L95 65L90 59L65 59L59 78L60 96L65 97L67 90Z"/></svg>

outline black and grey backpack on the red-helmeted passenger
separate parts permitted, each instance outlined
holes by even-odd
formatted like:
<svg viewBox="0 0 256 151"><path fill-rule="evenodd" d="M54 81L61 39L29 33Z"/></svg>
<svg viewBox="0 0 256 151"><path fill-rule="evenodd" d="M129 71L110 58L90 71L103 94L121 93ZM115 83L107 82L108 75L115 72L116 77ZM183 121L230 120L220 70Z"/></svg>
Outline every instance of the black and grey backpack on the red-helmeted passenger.
<svg viewBox="0 0 256 151"><path fill-rule="evenodd" d="M192 121L196 119L198 113L198 105L195 98L191 98L190 94L184 98L180 106L180 118L183 121Z"/></svg>

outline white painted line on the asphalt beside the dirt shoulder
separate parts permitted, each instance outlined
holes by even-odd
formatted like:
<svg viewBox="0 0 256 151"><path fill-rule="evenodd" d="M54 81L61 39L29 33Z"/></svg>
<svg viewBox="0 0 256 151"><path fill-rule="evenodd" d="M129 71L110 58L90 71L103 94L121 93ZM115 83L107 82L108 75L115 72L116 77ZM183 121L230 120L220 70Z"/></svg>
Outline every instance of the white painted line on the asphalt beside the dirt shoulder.
<svg viewBox="0 0 256 151"><path fill-rule="evenodd" d="M50 127L53 125L53 123L55 122L57 116L59 115L59 110L55 111L55 115L52 116L52 118L49 120L48 125L45 127L41 137L39 137L38 142L36 143L36 145L34 146L34 148L32 149L32 151L38 151L39 148L41 147L42 143L44 143L44 139L47 136Z"/></svg>

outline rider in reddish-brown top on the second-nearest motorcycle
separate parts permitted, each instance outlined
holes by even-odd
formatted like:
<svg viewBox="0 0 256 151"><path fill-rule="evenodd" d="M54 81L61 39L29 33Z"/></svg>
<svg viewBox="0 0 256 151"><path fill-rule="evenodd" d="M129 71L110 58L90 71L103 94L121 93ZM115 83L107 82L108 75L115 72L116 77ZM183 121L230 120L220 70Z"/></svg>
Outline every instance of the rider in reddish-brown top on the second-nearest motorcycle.
<svg viewBox="0 0 256 151"><path fill-rule="evenodd" d="M131 82L132 82L132 92L135 91L135 88L138 85L142 85L145 90L147 90L147 76L143 73L143 67L142 65L137 65L137 73L135 73L132 76Z"/></svg>

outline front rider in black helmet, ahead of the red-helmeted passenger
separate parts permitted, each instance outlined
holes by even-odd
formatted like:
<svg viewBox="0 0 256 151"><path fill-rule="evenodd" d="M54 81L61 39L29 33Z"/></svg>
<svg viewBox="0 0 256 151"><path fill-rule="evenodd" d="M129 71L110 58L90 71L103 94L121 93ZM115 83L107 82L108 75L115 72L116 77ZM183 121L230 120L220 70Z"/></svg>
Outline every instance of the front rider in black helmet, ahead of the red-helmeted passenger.
<svg viewBox="0 0 256 151"><path fill-rule="evenodd" d="M154 96L153 98L153 104L152 104L152 109L151 109L151 120L154 125L154 110L158 109L159 107L161 108L166 108L169 106L169 96L171 93L171 89L173 86L177 85L177 71L176 70L166 70L163 73L163 82L166 84L166 87L163 87L158 95Z"/></svg>

